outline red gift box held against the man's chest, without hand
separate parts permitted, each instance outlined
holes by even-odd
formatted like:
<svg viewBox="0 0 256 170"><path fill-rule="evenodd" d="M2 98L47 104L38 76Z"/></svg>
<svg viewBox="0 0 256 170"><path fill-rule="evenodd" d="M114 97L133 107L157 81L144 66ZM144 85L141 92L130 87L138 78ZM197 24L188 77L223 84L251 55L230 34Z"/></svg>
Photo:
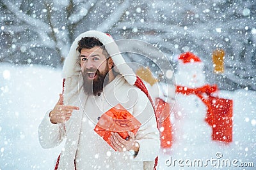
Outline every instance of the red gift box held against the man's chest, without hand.
<svg viewBox="0 0 256 170"><path fill-rule="evenodd" d="M94 131L111 146L111 132L117 132L123 139L128 139L127 132L133 132L135 135L140 125L141 123L129 111L125 110L121 104L117 104L101 115Z"/></svg>

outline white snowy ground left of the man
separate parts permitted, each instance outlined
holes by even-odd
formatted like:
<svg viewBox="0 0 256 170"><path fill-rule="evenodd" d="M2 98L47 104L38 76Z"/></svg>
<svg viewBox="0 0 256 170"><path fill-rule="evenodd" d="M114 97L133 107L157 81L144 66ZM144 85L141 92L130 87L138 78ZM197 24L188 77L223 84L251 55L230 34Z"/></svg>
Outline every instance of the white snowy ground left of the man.
<svg viewBox="0 0 256 170"><path fill-rule="evenodd" d="M0 66L0 169L53 169L61 146L44 150L37 128L61 93L60 70Z"/></svg>

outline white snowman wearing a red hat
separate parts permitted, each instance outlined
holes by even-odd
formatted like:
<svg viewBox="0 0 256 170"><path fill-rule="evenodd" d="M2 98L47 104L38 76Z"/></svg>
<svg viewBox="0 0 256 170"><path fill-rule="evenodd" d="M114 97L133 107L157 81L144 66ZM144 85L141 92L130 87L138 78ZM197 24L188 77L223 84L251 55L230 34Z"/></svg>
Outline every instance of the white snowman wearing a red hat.
<svg viewBox="0 0 256 170"><path fill-rule="evenodd" d="M204 64L191 52L179 55L176 85L196 89L205 85ZM175 159L209 159L212 128L205 122L207 107L195 94L177 94L173 110L173 147ZM204 152L202 152L204 150Z"/></svg>

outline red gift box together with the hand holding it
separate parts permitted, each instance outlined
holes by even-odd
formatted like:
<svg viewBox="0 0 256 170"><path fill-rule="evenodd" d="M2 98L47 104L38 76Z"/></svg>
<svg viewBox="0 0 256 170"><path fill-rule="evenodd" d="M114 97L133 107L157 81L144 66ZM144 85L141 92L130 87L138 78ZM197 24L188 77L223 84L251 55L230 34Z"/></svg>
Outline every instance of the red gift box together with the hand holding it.
<svg viewBox="0 0 256 170"><path fill-rule="evenodd" d="M139 145L135 141L135 134L140 125L141 123L129 111L121 104L117 104L100 117L94 131L115 151L138 152Z"/></svg>

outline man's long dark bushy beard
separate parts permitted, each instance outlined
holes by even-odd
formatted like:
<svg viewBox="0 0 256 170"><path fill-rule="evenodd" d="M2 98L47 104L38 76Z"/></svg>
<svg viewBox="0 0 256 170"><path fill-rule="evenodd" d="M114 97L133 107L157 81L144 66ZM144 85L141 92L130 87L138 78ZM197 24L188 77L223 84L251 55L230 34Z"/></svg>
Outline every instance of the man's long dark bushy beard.
<svg viewBox="0 0 256 170"><path fill-rule="evenodd" d="M102 92L103 88L108 84L108 67L106 67L106 69L102 71L102 73L100 73L99 69L97 69L97 77L93 80L88 79L87 71L95 71L95 69L86 69L84 72L82 72L84 92L88 96L96 96L97 94Z"/></svg>

